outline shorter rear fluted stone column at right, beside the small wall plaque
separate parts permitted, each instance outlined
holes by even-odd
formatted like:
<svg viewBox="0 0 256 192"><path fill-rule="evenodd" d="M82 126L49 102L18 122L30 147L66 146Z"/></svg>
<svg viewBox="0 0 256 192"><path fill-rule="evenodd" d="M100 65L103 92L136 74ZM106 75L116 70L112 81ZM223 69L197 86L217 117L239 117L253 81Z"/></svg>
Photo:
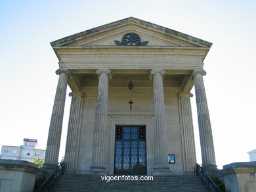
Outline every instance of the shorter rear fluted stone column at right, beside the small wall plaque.
<svg viewBox="0 0 256 192"><path fill-rule="evenodd" d="M194 128L192 121L192 111L190 104L190 97L193 94L188 93L179 94L179 111L181 119L181 139L182 139L182 153L184 172L194 172L196 164L196 147L194 140Z"/></svg>

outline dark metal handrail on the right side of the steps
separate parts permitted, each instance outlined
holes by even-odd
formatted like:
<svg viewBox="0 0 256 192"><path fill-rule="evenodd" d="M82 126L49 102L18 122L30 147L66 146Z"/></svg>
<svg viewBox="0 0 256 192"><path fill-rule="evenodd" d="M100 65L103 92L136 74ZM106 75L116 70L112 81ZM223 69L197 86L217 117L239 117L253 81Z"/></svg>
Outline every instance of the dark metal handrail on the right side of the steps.
<svg viewBox="0 0 256 192"><path fill-rule="evenodd" d="M198 163L196 163L196 166L194 166L194 173L196 174L196 176L198 176L198 178L200 178L200 180L203 182L205 187L209 189L209 191L221 192L221 189L219 189L216 183L213 182L213 180L209 177L207 172L205 172L202 166L200 166Z"/></svg>

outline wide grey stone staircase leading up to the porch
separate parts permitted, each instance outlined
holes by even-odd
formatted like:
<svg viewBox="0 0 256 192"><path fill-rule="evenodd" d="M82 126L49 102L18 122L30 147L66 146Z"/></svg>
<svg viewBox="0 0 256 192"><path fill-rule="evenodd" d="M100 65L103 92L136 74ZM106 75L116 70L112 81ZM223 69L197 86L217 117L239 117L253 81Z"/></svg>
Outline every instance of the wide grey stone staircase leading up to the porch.
<svg viewBox="0 0 256 192"><path fill-rule="evenodd" d="M139 176L140 177L140 176ZM65 174L51 192L209 192L194 175L154 176L153 181L110 181L100 176Z"/></svg>

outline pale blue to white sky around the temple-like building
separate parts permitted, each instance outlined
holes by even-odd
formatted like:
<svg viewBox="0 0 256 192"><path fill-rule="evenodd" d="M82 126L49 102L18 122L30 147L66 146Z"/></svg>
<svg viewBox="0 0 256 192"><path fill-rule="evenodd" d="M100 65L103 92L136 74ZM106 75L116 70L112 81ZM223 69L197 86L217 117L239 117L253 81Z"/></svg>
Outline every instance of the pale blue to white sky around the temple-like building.
<svg viewBox="0 0 256 192"><path fill-rule="evenodd" d="M203 77L218 168L256 149L256 1L0 1L0 145L45 149L58 83L50 42L129 16L213 43ZM60 159L71 99L66 97ZM194 94L194 89L192 90ZM192 114L198 163L196 98Z"/></svg>

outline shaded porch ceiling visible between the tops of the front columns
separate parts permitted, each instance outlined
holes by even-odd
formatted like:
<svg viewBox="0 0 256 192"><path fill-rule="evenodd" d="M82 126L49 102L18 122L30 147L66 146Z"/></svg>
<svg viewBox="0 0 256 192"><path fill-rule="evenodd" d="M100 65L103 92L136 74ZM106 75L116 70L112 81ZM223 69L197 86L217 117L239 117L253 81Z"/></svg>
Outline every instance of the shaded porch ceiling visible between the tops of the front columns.
<svg viewBox="0 0 256 192"><path fill-rule="evenodd" d="M163 87L166 90L171 88L171 92L190 92L194 81L191 78L193 70L175 70L164 69L165 75L163 75ZM125 90L129 81L133 81L133 84L137 88L140 88L142 92L146 90L152 90L152 80L150 80L151 69L111 69L110 90ZM72 91L85 91L96 90L98 86L98 77L96 75L96 69L70 69L70 78L68 85ZM86 91L85 91L86 92Z"/></svg>

